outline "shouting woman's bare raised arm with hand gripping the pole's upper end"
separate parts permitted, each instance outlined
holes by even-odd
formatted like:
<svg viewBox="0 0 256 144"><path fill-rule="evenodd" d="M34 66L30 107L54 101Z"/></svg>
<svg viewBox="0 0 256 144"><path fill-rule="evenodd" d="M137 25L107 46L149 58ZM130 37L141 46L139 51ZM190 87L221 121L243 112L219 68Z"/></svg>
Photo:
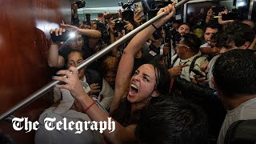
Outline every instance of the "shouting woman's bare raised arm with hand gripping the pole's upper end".
<svg viewBox="0 0 256 144"><path fill-rule="evenodd" d="M157 28L162 26L167 20L173 17L175 8L174 4L166 6L158 11L158 14L162 12L166 12L167 15L158 22L154 22L154 26ZM121 61L118 65L118 73L115 82L115 94L114 100L112 102L111 109L113 110L116 106L118 106L118 102L122 99L122 93L126 90L127 84L130 82L130 77L132 74L132 70L134 67L134 58L135 55L141 50L142 46L146 42L146 40L150 37L151 34L156 30L154 26L148 26L146 29L142 30L140 33L134 36L134 38L129 42L128 46L124 50L122 54ZM111 110L110 110L111 112Z"/></svg>

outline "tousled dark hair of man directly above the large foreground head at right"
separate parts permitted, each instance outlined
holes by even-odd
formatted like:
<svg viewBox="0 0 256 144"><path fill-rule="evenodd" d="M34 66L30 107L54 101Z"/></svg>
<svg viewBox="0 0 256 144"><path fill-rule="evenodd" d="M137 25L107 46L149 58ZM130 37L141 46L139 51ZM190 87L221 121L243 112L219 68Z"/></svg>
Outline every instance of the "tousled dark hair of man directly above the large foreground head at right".
<svg viewBox="0 0 256 144"><path fill-rule="evenodd" d="M230 44L234 42L234 46L240 47L245 42L254 41L254 31L249 25L242 22L232 22L222 30L218 38L218 46L229 48Z"/></svg>

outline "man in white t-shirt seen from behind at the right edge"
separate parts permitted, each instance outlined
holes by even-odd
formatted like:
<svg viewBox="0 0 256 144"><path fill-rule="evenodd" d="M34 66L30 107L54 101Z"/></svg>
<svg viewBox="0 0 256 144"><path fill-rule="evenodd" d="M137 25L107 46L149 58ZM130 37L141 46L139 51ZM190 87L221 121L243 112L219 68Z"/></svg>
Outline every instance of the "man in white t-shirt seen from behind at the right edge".
<svg viewBox="0 0 256 144"><path fill-rule="evenodd" d="M218 135L218 144L223 144L233 122L256 118L256 56L250 50L230 50L217 59L213 75L218 97L227 110Z"/></svg>

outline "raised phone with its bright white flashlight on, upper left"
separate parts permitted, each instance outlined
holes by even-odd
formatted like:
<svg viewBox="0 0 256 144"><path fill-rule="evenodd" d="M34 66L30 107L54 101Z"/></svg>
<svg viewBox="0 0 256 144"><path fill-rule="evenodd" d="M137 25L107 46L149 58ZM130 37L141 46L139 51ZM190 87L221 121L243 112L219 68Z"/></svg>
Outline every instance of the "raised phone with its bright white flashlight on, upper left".
<svg viewBox="0 0 256 144"><path fill-rule="evenodd" d="M50 34L50 37L53 42L66 42L70 38L74 38L75 34L71 31L66 30L65 32L62 32L62 35L56 36L55 31Z"/></svg>

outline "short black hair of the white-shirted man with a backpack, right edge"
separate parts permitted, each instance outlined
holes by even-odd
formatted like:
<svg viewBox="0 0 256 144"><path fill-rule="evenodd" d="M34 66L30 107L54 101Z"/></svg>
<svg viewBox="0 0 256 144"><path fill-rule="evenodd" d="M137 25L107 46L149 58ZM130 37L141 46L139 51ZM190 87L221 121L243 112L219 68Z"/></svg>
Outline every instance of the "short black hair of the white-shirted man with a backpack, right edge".
<svg viewBox="0 0 256 144"><path fill-rule="evenodd" d="M214 81L225 96L256 94L256 57L250 50L230 50L214 64Z"/></svg>

